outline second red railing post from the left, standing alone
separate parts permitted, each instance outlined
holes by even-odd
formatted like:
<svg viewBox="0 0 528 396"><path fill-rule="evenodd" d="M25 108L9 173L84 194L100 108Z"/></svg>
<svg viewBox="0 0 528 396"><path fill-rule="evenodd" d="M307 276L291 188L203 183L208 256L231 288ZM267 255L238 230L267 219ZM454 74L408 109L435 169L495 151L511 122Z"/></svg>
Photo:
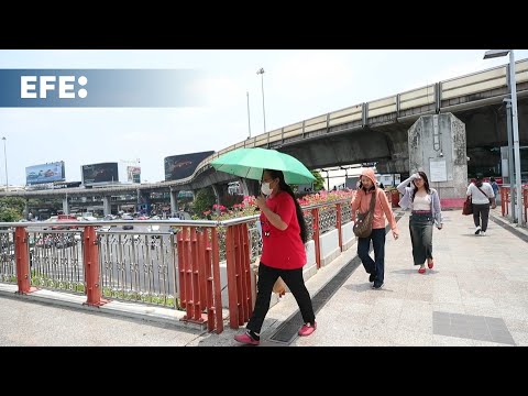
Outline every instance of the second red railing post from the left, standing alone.
<svg viewBox="0 0 528 396"><path fill-rule="evenodd" d="M94 226L85 227L82 233L86 275L86 305L100 307L108 302L101 298L101 285L99 279L99 246L97 244L96 229Z"/></svg>

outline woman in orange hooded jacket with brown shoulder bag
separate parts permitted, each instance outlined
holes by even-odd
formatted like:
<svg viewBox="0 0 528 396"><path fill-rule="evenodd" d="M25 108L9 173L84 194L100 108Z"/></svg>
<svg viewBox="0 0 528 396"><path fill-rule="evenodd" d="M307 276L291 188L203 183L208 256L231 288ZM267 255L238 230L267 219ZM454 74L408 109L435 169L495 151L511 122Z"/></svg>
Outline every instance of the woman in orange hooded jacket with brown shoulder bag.
<svg viewBox="0 0 528 396"><path fill-rule="evenodd" d="M374 170L372 168L363 169L359 189L352 201L352 221L355 222L358 210L365 213L370 210L371 199L376 200L372 219L372 233L367 238L358 238L358 256L361 258L365 271L371 274L369 282L373 282L372 288L380 289L385 276L385 218L388 220L395 240L398 239L399 231L387 196L381 188L376 187L376 184ZM369 254L371 241L374 260Z"/></svg>

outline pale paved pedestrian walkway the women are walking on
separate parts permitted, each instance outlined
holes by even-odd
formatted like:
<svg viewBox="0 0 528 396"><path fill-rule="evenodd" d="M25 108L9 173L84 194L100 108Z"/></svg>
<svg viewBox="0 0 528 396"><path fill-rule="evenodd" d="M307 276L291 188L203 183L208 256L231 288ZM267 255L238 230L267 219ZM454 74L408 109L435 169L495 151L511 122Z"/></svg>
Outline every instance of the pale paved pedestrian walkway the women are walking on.
<svg viewBox="0 0 528 396"><path fill-rule="evenodd" d="M433 231L435 267L425 275L413 265L408 212L397 212L400 238L394 241L387 234L381 290L371 289L354 245L307 280L317 331L296 336L300 318L287 293L270 310L257 348L528 345L528 232L493 212L486 237L476 237L472 217L444 211L443 229ZM123 318L111 310L101 314L43 300L0 288L0 345L255 348L233 340L243 328L226 326L216 334L175 326L175 318L156 319L152 308L151 317L136 312L135 318ZM127 305L121 308L127 310Z"/></svg>

